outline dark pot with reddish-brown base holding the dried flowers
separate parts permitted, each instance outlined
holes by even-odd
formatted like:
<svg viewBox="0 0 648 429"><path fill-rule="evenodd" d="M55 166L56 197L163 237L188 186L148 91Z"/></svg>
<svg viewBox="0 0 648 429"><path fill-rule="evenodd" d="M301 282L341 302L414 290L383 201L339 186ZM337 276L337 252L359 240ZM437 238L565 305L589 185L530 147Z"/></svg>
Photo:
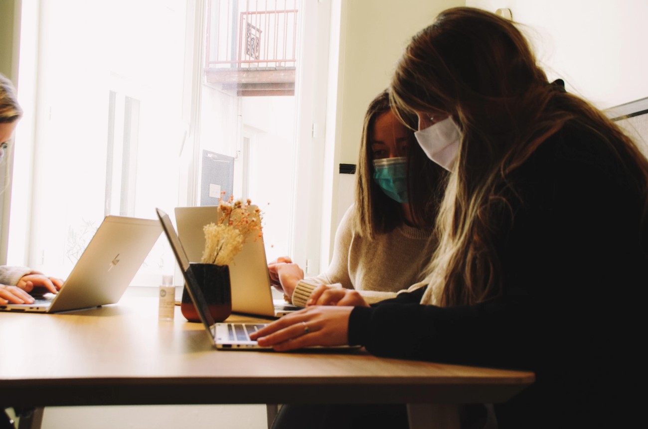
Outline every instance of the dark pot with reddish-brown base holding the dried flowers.
<svg viewBox="0 0 648 429"><path fill-rule="evenodd" d="M229 283L229 266L192 263L189 266L200 287L209 313L215 322L224 321L232 312L232 294ZM187 286L182 291L182 315L191 322L200 322L200 316L191 301Z"/></svg>

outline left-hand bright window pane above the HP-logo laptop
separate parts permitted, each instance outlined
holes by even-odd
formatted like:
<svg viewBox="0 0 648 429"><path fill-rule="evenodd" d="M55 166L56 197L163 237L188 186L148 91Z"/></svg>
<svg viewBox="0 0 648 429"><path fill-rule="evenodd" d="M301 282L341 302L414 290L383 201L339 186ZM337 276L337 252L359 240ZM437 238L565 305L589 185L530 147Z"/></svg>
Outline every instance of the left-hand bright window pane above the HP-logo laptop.
<svg viewBox="0 0 648 429"><path fill-rule="evenodd" d="M41 1L30 266L65 277L106 214L178 205L186 9ZM143 268L133 284L172 272L165 240Z"/></svg>

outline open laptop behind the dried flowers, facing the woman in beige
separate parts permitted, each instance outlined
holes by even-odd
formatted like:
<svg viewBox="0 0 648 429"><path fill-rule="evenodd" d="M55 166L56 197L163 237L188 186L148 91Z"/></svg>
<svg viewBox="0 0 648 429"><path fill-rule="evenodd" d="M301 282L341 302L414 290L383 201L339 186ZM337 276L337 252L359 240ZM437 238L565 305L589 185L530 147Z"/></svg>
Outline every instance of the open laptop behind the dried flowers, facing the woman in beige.
<svg viewBox="0 0 648 429"><path fill-rule="evenodd" d="M176 207L175 214L179 240L187 252L189 261L200 262L205 248L203 226L218 219L218 206ZM234 258L234 263L229 266L229 278L233 312L279 318L300 309L283 299L272 298L263 237L246 238L243 248Z"/></svg>

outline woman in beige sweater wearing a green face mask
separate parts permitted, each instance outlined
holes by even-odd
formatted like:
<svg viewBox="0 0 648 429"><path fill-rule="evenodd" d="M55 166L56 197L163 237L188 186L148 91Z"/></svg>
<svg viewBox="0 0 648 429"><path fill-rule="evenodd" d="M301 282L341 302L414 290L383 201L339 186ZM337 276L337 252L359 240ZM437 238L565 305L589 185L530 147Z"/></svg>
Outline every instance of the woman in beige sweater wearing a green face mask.
<svg viewBox="0 0 648 429"><path fill-rule="evenodd" d="M415 117L408 119L411 126L416 124ZM273 284L292 303L306 307L323 284L331 291L330 299L336 290L352 289L376 303L423 280L421 273L436 246L432 225L445 170L415 152L421 148L413 132L391 112L388 93L380 93L365 113L356 202L338 226L329 268L304 278L289 257L268 266Z"/></svg>

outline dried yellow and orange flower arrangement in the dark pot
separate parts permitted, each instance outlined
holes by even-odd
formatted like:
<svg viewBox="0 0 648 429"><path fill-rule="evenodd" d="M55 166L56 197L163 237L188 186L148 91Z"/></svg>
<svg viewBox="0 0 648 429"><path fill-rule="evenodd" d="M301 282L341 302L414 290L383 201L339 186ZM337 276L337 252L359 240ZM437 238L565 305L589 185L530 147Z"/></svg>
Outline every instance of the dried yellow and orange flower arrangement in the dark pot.
<svg viewBox="0 0 648 429"><path fill-rule="evenodd" d="M218 202L220 218L203 227L205 249L202 255L203 264L229 265L243 248L249 237L255 240L261 237L261 211L259 207L230 197Z"/></svg>

